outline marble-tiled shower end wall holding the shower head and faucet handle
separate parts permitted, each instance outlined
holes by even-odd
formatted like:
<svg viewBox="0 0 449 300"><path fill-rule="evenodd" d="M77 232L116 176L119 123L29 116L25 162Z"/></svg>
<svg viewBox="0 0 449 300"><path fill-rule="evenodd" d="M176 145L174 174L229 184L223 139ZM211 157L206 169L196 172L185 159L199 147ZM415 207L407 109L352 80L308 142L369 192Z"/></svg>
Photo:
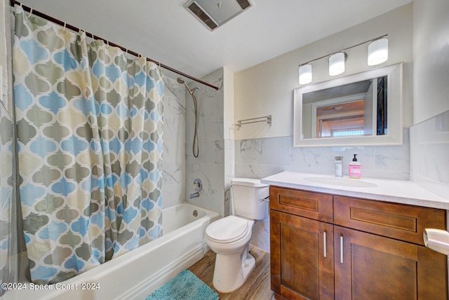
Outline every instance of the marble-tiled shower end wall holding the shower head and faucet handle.
<svg viewBox="0 0 449 300"><path fill-rule="evenodd" d="M198 87L194 93L198 103L198 135L199 135L199 156L196 158L192 154L194 138L194 105L192 96L186 95L186 134L185 134L185 154L186 154L186 175L185 175L185 197L187 202L199 205L208 210L218 212L225 216L229 213L229 185L225 183L225 149L229 147L229 142L225 142L223 118L224 118L224 93L223 93L223 69L218 69L201 80L219 87L218 90L192 82L190 88ZM203 189L199 192L199 197L190 199L194 193L194 179L200 179ZM229 196L227 196L229 197Z"/></svg>

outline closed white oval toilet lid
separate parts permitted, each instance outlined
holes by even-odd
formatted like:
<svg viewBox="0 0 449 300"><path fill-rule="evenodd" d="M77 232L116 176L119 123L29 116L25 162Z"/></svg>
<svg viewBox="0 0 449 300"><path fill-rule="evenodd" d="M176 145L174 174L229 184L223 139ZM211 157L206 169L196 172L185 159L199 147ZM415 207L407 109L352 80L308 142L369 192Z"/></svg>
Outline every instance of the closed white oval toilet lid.
<svg viewBox="0 0 449 300"><path fill-rule="evenodd" d="M248 220L235 216L219 219L208 226L206 235L217 243L232 243L248 233Z"/></svg>

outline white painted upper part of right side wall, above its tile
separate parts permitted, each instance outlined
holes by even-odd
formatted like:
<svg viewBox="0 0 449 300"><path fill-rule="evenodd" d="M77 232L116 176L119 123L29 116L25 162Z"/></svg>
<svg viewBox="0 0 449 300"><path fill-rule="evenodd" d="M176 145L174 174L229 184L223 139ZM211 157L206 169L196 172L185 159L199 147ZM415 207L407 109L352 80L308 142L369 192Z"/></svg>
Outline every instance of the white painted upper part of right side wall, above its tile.
<svg viewBox="0 0 449 300"><path fill-rule="evenodd" d="M449 1L413 4L413 123L449 110Z"/></svg>

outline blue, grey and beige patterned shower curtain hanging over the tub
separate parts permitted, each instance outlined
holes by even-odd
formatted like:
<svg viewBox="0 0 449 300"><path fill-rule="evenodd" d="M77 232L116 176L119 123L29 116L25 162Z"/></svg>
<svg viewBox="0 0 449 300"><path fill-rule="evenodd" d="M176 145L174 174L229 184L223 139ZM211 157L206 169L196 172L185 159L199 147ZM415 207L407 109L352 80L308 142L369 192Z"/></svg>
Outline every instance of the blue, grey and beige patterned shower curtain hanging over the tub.
<svg viewBox="0 0 449 300"><path fill-rule="evenodd" d="M16 6L13 72L32 281L72 278L158 238L159 67Z"/></svg>

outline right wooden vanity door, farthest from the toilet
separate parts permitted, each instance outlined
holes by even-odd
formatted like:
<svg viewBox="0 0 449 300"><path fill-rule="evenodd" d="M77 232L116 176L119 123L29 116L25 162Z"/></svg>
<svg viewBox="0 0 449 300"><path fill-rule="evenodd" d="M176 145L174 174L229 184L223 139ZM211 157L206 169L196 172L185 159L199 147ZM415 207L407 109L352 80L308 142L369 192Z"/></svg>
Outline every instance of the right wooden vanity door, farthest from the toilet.
<svg viewBox="0 0 449 300"><path fill-rule="evenodd" d="M335 299L448 299L447 257L334 226Z"/></svg>

